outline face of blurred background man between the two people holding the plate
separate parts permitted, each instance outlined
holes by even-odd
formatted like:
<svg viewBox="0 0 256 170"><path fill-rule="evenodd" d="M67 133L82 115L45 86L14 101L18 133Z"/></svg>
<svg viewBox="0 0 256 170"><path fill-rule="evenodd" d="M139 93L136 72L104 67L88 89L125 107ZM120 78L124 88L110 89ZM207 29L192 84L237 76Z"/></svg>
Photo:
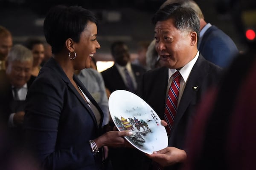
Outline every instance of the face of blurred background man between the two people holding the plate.
<svg viewBox="0 0 256 170"><path fill-rule="evenodd" d="M113 50L113 58L120 66L125 66L130 61L128 46L118 45Z"/></svg>

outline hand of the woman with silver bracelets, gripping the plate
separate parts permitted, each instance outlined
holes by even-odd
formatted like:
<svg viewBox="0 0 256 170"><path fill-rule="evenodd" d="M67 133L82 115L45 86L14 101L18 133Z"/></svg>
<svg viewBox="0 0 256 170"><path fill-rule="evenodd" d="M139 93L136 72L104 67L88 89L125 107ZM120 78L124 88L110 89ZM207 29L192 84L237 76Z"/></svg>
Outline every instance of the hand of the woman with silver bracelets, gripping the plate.
<svg viewBox="0 0 256 170"><path fill-rule="evenodd" d="M96 143L98 148L102 146L125 147L126 140L123 137L131 134L132 132L130 131L110 131L101 135L99 138L94 139L93 141Z"/></svg>

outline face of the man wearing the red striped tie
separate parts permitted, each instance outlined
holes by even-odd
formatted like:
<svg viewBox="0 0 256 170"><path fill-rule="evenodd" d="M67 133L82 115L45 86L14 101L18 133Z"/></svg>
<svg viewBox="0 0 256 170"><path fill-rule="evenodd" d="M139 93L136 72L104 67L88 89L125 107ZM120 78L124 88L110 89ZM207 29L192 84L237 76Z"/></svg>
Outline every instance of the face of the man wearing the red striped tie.
<svg viewBox="0 0 256 170"><path fill-rule="evenodd" d="M192 45L192 34L178 30L173 19L158 21L154 32L155 48L163 66L178 70L195 57L196 53L191 54L195 51L195 46Z"/></svg>

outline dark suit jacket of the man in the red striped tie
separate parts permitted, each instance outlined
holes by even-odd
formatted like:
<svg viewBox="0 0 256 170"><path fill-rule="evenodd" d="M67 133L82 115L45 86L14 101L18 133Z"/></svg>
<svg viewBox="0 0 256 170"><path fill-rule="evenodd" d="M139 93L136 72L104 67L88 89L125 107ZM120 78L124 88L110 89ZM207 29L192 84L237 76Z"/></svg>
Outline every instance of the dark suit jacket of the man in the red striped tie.
<svg viewBox="0 0 256 170"><path fill-rule="evenodd" d="M221 70L220 67L206 61L201 54L199 55L177 108L168 146L185 149L185 138L188 126L195 118L195 109L207 89L218 83L222 75ZM164 119L167 86L168 68L162 67L145 72L142 86L139 89L140 97L154 109L161 119ZM198 87L194 89L193 87L196 86Z"/></svg>

